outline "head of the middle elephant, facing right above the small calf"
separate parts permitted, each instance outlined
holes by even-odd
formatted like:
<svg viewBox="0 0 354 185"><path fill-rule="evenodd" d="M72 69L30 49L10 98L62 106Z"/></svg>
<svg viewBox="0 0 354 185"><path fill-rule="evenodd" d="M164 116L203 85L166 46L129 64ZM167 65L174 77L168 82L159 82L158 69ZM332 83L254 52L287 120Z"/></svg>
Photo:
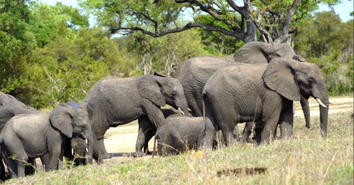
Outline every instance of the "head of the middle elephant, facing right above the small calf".
<svg viewBox="0 0 354 185"><path fill-rule="evenodd" d="M183 87L176 78L144 75L138 83L138 90L142 97L149 99L157 106L163 107L167 104L182 114L188 113Z"/></svg>

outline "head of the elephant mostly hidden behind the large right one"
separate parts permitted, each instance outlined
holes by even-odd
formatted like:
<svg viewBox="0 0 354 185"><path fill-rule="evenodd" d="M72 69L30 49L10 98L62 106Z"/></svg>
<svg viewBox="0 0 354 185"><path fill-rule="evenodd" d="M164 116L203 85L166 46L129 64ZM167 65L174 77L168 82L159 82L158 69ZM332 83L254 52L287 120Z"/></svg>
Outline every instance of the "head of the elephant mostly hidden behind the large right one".
<svg viewBox="0 0 354 185"><path fill-rule="evenodd" d="M278 57L305 62L288 43L247 42L234 54L235 62L246 64L267 64Z"/></svg>

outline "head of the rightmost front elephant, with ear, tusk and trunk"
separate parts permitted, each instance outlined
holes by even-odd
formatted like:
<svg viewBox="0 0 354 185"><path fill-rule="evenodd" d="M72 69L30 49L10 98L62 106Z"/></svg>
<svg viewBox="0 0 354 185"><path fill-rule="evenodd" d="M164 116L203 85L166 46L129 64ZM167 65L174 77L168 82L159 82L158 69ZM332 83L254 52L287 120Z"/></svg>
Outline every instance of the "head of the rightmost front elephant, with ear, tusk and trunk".
<svg viewBox="0 0 354 185"><path fill-rule="evenodd" d="M265 85L291 101L301 96L315 98L320 104L321 133L327 136L328 93L325 80L316 64L287 58L273 59L262 75Z"/></svg>

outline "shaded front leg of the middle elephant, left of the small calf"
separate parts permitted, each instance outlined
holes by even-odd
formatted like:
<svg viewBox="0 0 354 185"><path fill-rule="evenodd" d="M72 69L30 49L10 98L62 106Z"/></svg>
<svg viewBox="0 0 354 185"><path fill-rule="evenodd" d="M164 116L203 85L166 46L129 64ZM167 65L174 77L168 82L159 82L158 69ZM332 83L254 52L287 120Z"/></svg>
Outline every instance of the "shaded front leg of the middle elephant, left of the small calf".
<svg viewBox="0 0 354 185"><path fill-rule="evenodd" d="M149 142L147 140L149 128L153 126L147 116L142 116L138 119L139 123L139 131L138 138L135 147L135 155L134 157L143 157L145 153L142 151L145 143Z"/></svg>

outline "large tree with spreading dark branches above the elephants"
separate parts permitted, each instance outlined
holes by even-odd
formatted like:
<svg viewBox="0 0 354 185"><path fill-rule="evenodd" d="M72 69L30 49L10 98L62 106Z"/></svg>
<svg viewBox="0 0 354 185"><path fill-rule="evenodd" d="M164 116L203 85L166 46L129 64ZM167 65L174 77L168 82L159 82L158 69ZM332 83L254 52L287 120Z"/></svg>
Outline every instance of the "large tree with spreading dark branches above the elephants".
<svg viewBox="0 0 354 185"><path fill-rule="evenodd" d="M319 3L334 5L338 0L244 0L241 6L232 0L82 0L80 6L98 16L98 23L108 27L112 34L141 31L160 37L199 27L249 42L257 39L258 29L264 41L283 42L294 31L291 29L292 21L309 15ZM180 27L175 22L188 10L193 11L193 15L210 15L215 22L222 24L211 26L194 20ZM227 28L220 26L223 24Z"/></svg>

